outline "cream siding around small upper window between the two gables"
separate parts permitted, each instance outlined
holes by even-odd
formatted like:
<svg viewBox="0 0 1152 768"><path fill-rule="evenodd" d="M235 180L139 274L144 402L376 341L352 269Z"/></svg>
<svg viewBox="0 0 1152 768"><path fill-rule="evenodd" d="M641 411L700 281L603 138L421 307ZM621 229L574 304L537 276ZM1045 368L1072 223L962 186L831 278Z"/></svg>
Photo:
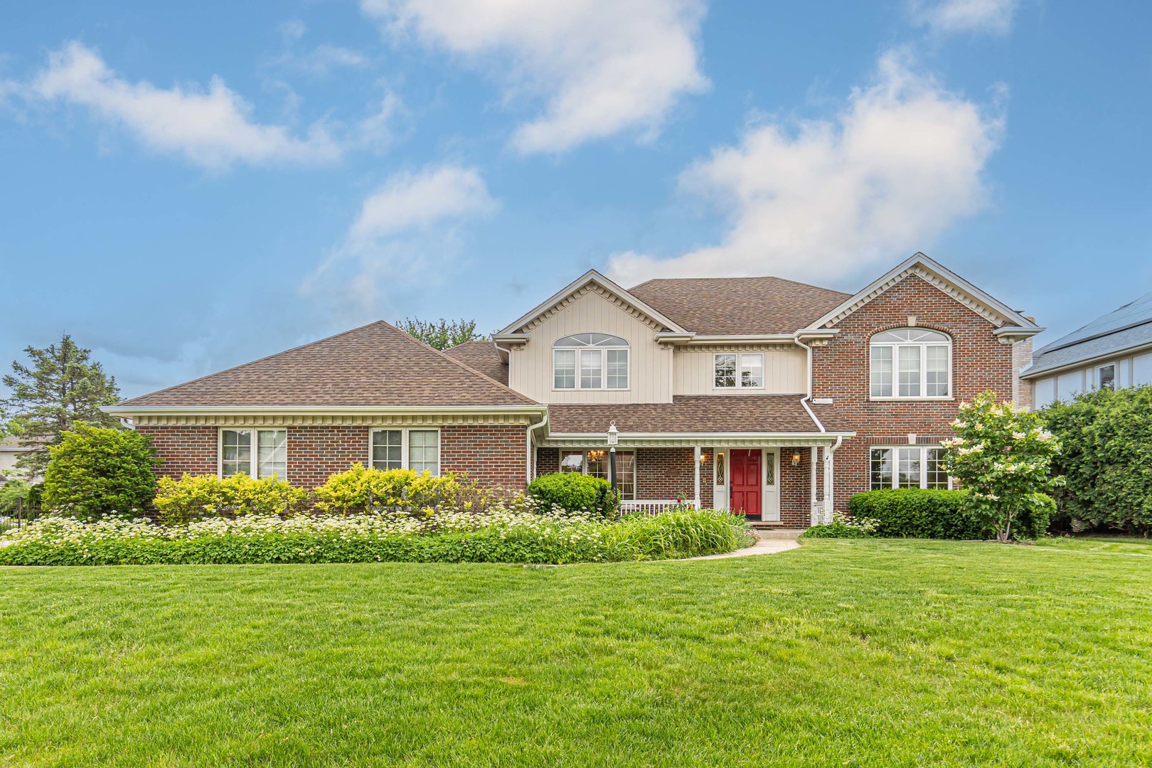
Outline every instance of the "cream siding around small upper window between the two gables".
<svg viewBox="0 0 1152 768"><path fill-rule="evenodd" d="M763 352L764 387L715 389L713 356L717 352ZM680 348L675 357L674 391L677 395L793 395L808 389L808 356L803 349L782 345L732 345Z"/></svg>

